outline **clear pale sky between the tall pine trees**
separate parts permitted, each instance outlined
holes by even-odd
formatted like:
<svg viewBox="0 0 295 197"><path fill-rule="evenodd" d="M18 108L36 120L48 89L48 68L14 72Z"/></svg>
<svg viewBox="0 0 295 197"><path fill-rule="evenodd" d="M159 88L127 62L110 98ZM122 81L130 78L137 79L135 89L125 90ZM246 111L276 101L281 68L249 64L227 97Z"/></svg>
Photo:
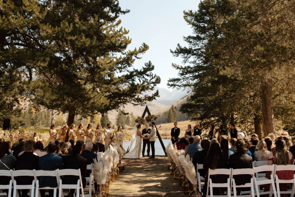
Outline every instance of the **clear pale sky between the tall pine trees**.
<svg viewBox="0 0 295 197"><path fill-rule="evenodd" d="M154 73L160 76L158 87L166 88L168 79L177 77L172 63L181 64L180 57L173 57L177 43L185 45L183 36L191 35L192 29L183 19L183 10L197 10L199 0L119 0L122 9L130 12L121 15L122 27L130 30L132 43L128 49L149 45L149 50L142 59L135 61L135 68L140 68L149 60L155 66ZM172 90L172 89L169 89Z"/></svg>

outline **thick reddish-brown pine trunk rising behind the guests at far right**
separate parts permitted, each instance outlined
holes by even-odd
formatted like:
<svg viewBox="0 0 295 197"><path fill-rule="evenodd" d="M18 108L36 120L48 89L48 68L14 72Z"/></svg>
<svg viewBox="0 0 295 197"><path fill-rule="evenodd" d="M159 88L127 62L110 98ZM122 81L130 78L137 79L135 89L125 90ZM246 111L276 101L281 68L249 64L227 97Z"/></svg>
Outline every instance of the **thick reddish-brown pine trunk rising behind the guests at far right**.
<svg viewBox="0 0 295 197"><path fill-rule="evenodd" d="M270 83L265 83L261 92L262 101L262 121L263 121L263 133L268 135L273 133L276 135L276 128L274 124L273 115L273 90Z"/></svg>

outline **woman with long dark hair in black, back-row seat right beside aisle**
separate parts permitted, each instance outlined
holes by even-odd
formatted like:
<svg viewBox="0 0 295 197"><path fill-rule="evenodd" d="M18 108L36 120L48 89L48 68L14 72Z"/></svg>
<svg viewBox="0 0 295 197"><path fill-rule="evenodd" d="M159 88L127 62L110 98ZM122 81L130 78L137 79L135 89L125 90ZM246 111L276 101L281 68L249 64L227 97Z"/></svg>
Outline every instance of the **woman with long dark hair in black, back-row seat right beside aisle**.
<svg viewBox="0 0 295 197"><path fill-rule="evenodd" d="M228 148L228 147L227 147ZM206 173L205 175L205 185L204 185L204 193L207 193L207 183L208 183L208 170L209 168L219 169L219 168L228 168L227 166L227 156L224 157L221 153L221 149L219 144L213 143L210 146L210 149L208 151L207 156L204 159L204 171ZM226 183L228 175L216 175L216 176L210 176L212 179L212 183ZM213 188L213 195L219 195L220 188Z"/></svg>

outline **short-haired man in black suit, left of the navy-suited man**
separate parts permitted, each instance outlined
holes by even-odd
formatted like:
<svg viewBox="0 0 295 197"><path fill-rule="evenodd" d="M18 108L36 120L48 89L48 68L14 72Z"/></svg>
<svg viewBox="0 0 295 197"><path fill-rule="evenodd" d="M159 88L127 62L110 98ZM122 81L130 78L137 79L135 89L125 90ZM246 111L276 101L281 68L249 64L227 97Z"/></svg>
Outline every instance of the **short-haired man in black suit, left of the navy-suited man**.
<svg viewBox="0 0 295 197"><path fill-rule="evenodd" d="M38 170L39 156L33 154L34 143L32 141L26 141L24 143L24 153L17 158L15 170ZM32 184L34 177L22 176L16 177L18 185ZM27 197L28 190L22 190L22 197Z"/></svg>

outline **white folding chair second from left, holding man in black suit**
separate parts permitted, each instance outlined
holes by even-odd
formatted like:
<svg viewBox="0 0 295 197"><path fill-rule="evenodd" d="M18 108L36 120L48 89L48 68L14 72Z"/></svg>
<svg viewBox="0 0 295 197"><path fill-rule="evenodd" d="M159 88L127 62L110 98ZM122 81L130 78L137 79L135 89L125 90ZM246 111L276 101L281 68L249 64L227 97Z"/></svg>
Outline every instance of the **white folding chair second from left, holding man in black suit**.
<svg viewBox="0 0 295 197"><path fill-rule="evenodd" d="M21 189L30 189L31 197L34 196L34 189L35 189L35 180L32 181L32 184L30 185L17 185L17 181L15 180L15 177L21 177L21 176L31 176L34 177L33 170L10 170L11 172L11 178L13 180L13 197L19 197L19 193L17 190ZM28 195L30 195L28 193Z"/></svg>

